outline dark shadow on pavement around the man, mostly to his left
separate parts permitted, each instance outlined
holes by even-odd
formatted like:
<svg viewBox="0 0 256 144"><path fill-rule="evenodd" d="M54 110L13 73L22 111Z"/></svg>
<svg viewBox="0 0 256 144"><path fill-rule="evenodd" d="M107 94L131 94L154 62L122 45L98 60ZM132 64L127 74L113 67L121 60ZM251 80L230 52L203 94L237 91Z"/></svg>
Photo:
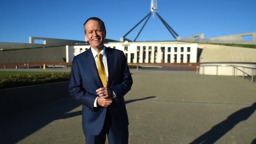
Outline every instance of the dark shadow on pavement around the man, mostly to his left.
<svg viewBox="0 0 256 144"><path fill-rule="evenodd" d="M139 100L154 98L149 96L135 100L128 100L131 103ZM70 96L59 98L43 105L26 109L16 114L9 114L0 119L0 144L17 143L23 138L58 119L66 119L82 114L82 111L67 113L81 104Z"/></svg>

